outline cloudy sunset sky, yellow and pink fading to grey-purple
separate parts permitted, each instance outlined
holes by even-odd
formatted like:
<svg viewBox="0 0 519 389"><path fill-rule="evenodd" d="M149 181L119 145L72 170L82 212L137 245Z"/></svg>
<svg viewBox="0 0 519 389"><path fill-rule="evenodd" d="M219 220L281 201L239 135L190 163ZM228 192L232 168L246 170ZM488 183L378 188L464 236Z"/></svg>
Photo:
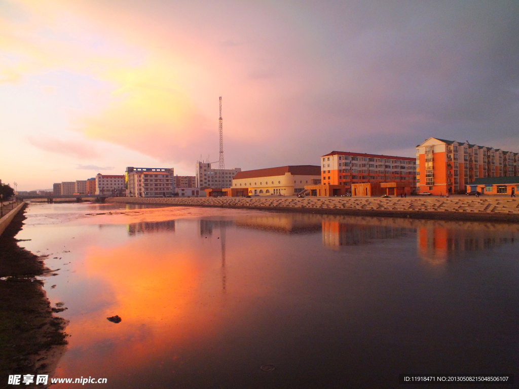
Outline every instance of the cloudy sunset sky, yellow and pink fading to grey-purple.
<svg viewBox="0 0 519 389"><path fill-rule="evenodd" d="M0 179L519 151L517 1L0 0ZM215 164L217 167L217 164Z"/></svg>

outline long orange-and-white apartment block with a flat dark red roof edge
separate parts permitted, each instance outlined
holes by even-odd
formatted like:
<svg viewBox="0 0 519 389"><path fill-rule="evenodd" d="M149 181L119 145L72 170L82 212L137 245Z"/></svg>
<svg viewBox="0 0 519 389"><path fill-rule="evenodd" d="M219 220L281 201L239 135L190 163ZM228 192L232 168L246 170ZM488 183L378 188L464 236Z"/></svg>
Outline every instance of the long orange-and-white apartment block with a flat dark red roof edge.
<svg viewBox="0 0 519 389"><path fill-rule="evenodd" d="M323 185L396 182L416 190L416 160L360 152L332 151L321 157Z"/></svg>

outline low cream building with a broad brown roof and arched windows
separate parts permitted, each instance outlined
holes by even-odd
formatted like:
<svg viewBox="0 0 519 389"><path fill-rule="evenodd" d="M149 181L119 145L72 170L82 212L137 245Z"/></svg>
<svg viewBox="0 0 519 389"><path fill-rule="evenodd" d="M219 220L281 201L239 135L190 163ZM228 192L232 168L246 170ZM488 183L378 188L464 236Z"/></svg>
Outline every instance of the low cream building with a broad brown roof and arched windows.
<svg viewBox="0 0 519 389"><path fill-rule="evenodd" d="M238 172L233 179L233 190L247 189L249 195L293 196L305 185L321 183L321 168L312 165L280 166L279 168ZM243 193L247 195L247 193ZM241 196L241 195L237 195Z"/></svg>

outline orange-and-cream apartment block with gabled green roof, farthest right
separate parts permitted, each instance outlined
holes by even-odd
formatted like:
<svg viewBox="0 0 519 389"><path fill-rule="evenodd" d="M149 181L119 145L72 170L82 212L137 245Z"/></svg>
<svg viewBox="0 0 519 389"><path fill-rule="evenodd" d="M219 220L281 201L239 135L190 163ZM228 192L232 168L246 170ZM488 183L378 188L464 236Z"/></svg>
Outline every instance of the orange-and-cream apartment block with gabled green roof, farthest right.
<svg viewBox="0 0 519 389"><path fill-rule="evenodd" d="M416 146L419 192L465 192L476 178L517 175L517 153L466 142L429 138Z"/></svg>

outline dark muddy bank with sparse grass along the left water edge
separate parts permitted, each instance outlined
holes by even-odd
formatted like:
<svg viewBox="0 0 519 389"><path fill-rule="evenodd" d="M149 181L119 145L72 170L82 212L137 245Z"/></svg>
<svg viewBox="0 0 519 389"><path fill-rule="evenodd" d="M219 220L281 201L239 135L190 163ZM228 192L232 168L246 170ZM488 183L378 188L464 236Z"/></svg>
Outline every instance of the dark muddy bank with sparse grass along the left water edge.
<svg viewBox="0 0 519 389"><path fill-rule="evenodd" d="M66 321L53 316L34 278L46 270L43 258L15 240L24 219L21 210L0 237L0 388L9 374L51 374L67 343Z"/></svg>

